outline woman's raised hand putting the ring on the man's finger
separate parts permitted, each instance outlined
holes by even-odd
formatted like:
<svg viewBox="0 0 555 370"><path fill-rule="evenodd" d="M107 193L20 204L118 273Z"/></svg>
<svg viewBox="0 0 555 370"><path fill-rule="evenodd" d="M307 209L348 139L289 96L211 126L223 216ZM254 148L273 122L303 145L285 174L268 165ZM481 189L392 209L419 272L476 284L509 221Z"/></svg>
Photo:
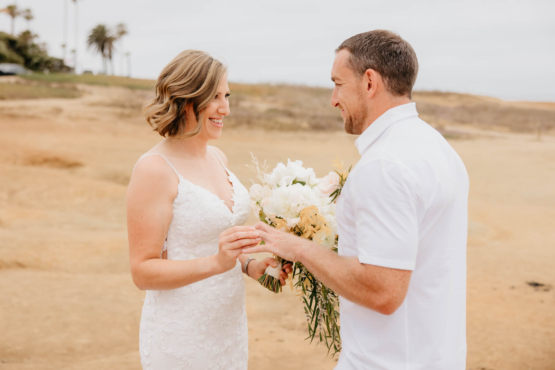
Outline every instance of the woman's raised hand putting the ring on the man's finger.
<svg viewBox="0 0 555 370"><path fill-rule="evenodd" d="M219 251L216 255L221 272L229 271L235 267L237 257L245 247L255 246L260 242L258 231L253 226L234 226L221 232L218 242Z"/></svg>

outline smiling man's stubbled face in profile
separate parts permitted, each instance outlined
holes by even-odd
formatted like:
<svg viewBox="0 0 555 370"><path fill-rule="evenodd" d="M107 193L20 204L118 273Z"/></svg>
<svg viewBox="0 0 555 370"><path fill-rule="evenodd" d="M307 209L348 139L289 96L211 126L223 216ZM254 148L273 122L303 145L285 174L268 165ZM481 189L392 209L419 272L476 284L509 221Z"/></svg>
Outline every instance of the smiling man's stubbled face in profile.
<svg viewBox="0 0 555 370"><path fill-rule="evenodd" d="M363 76L357 76L349 66L351 53L341 49L335 55L331 68L331 80L335 83L331 106L341 109L341 117L347 134L362 134L368 116Z"/></svg>

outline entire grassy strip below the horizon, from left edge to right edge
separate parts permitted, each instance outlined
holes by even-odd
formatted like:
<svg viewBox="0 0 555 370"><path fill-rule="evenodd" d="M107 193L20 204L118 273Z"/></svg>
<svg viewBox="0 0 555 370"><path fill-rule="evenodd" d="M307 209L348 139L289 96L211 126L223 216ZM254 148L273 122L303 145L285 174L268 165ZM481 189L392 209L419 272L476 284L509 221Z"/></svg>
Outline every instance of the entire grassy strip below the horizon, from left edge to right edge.
<svg viewBox="0 0 555 370"><path fill-rule="evenodd" d="M74 97L77 84L124 87L135 91L109 104L136 109L140 109L155 84L153 80L71 74L35 74L25 79L12 79L12 82L15 82L14 98ZM33 96L20 92L23 89L31 91L33 87L36 90ZM341 129L341 116L329 104L331 89L237 83L230 83L229 87L233 114L227 119L228 127L280 131ZM67 90L66 95L60 95L57 89ZM8 99L9 93L9 85L0 85L0 99ZM415 92L413 101L418 105L421 118L443 131L446 126L456 124L523 133L536 132L539 128L549 133L555 126L555 103L505 102L442 92Z"/></svg>

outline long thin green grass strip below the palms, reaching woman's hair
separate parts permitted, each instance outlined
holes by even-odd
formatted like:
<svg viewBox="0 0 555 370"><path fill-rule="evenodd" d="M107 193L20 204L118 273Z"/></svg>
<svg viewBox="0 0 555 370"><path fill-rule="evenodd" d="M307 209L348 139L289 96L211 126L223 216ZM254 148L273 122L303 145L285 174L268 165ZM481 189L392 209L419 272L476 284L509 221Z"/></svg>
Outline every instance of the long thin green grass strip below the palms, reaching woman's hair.
<svg viewBox="0 0 555 370"><path fill-rule="evenodd" d="M102 86L120 86L129 89L150 90L154 88L156 83L154 80L143 80L138 78L128 78L122 76L93 75L93 74L70 74L70 73L34 73L29 75L21 75L20 77L54 83L79 83Z"/></svg>

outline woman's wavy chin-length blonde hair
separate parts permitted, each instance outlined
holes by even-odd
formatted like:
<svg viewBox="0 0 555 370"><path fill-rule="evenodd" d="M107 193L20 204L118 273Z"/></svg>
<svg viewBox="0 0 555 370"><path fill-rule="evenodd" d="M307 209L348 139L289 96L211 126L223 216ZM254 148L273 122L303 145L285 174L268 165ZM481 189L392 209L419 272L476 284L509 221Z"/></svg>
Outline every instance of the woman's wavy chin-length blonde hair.
<svg viewBox="0 0 555 370"><path fill-rule="evenodd" d="M160 73L154 99L143 104L143 117L164 137L192 138L200 134L204 109L216 96L227 68L200 50L185 50ZM196 126L185 132L186 107L193 106Z"/></svg>

